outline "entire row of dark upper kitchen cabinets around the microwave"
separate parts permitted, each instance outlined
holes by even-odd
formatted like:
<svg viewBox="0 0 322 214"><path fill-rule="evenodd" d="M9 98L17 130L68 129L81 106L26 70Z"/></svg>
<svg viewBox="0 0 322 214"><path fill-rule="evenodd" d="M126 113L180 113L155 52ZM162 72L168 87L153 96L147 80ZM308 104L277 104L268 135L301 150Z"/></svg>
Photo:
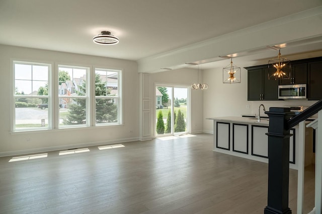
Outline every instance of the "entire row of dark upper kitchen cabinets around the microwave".
<svg viewBox="0 0 322 214"><path fill-rule="evenodd" d="M248 71L248 100L278 100L278 85L307 84L307 99L322 99L322 57L291 61L284 72L290 79L268 79L275 68L260 65L245 68Z"/></svg>

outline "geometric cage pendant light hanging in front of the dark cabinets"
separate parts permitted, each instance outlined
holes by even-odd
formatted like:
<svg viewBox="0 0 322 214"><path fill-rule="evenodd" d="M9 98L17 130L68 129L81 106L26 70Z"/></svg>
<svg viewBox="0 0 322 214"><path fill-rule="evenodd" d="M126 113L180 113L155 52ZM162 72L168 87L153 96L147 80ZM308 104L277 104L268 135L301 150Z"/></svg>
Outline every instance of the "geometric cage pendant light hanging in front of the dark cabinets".
<svg viewBox="0 0 322 214"><path fill-rule="evenodd" d="M273 74L268 74L268 79L273 77L275 80L277 79L289 79L290 77L283 71L285 66L289 64L289 68L291 68L290 60L283 58L281 56L281 50L278 50L278 58L276 60L268 61L268 68L274 67L276 71Z"/></svg>

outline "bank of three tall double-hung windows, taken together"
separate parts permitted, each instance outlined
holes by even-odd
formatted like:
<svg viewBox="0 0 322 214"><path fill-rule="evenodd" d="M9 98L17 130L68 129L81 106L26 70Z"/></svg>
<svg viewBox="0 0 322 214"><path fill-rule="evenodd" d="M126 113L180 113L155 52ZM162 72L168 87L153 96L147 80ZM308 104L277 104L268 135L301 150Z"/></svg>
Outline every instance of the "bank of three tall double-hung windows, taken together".
<svg viewBox="0 0 322 214"><path fill-rule="evenodd" d="M121 124L121 71L94 70L13 61L13 131Z"/></svg>

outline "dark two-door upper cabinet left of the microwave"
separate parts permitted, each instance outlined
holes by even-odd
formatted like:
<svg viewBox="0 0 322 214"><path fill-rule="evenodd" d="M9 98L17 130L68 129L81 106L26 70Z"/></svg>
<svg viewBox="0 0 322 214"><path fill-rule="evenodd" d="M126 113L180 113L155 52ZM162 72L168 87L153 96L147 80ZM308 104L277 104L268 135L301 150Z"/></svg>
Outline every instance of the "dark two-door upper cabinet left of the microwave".
<svg viewBox="0 0 322 214"><path fill-rule="evenodd" d="M278 80L268 79L274 68L267 66L249 67L248 100L278 100Z"/></svg>

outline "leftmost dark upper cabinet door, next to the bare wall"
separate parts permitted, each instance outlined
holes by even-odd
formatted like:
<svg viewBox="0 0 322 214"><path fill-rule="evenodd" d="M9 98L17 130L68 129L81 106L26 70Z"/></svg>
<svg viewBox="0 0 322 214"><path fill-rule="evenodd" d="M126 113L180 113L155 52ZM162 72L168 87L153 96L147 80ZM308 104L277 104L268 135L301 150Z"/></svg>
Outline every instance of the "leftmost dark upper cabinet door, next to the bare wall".
<svg viewBox="0 0 322 214"><path fill-rule="evenodd" d="M261 100L263 69L248 70L248 100Z"/></svg>

